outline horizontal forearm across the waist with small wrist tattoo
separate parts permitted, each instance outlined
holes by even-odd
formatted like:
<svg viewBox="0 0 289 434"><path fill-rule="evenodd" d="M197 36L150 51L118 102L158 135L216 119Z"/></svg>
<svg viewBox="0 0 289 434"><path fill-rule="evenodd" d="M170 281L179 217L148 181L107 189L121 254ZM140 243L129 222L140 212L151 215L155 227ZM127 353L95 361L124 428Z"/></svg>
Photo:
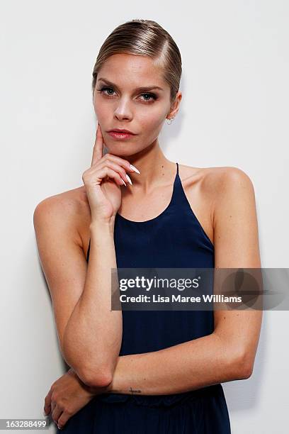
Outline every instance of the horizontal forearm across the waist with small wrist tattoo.
<svg viewBox="0 0 289 434"><path fill-rule="evenodd" d="M162 395L242 379L242 357L211 335L155 352L118 357L104 393Z"/></svg>

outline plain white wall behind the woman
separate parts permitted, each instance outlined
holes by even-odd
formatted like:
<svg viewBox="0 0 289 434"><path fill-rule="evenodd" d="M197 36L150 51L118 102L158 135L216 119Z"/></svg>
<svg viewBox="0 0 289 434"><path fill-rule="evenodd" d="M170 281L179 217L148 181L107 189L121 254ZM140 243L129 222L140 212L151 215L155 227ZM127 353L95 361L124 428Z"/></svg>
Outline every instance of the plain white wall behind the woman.
<svg viewBox="0 0 289 434"><path fill-rule="evenodd" d="M288 267L289 4L6 0L0 16L0 418L41 418L64 365L33 211L45 197L81 186L91 164L91 73L103 40L132 18L171 33L183 59L183 100L164 125L164 153L180 164L249 174L262 266ZM232 433L288 429L287 339L288 312L265 312L254 374L224 384Z"/></svg>

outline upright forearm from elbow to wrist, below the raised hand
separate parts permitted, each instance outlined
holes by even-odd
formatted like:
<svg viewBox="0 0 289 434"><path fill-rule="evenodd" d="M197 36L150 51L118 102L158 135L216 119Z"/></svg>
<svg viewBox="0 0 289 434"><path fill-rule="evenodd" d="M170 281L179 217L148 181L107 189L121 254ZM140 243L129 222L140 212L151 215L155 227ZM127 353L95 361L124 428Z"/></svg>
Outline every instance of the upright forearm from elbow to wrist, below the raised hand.
<svg viewBox="0 0 289 434"><path fill-rule="evenodd" d="M116 269L113 227L103 223L90 229L84 291L63 338L65 360L81 379L91 379L89 383L112 375L123 333L122 311L111 310L111 269Z"/></svg>

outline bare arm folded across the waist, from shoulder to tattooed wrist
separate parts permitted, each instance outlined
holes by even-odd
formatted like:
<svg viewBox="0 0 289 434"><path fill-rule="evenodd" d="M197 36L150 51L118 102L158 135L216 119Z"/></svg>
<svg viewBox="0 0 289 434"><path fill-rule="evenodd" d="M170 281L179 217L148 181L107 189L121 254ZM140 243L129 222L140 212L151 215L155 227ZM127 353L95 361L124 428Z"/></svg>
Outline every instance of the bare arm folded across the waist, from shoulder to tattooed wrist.
<svg viewBox="0 0 289 434"><path fill-rule="evenodd" d="M215 268L259 268L254 188L239 169L210 183L214 206ZM156 352L118 357L106 392L175 394L251 376L261 311L214 311L211 335Z"/></svg>

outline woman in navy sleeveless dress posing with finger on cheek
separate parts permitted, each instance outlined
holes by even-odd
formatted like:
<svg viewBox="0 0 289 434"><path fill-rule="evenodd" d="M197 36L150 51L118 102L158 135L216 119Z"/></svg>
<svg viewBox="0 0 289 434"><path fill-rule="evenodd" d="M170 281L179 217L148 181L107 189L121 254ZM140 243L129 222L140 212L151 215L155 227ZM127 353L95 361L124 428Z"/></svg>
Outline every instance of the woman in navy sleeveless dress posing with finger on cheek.
<svg viewBox="0 0 289 434"><path fill-rule="evenodd" d="M261 266L249 177L179 165L159 148L180 79L179 49L161 26L115 28L94 67L98 128L84 186L35 208L70 366L45 413L67 433L230 433L221 383L253 369L260 311L111 310L116 267Z"/></svg>

